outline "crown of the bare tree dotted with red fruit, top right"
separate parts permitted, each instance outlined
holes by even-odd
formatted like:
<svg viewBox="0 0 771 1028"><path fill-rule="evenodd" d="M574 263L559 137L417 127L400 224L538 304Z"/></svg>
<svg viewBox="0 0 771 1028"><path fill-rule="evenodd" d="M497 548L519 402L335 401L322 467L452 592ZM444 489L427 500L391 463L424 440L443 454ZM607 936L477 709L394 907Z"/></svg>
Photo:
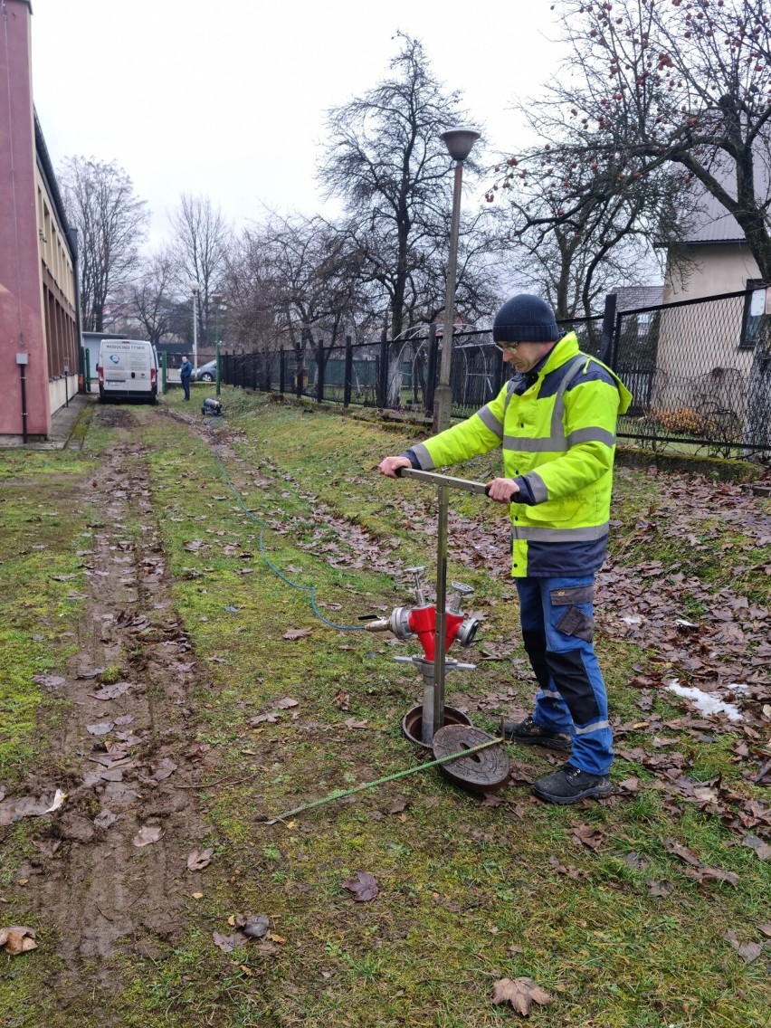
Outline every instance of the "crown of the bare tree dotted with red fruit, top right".
<svg viewBox="0 0 771 1028"><path fill-rule="evenodd" d="M668 169L684 198L699 183L736 219L771 281L764 0L562 0L560 9L573 54L542 125L547 139L570 125L563 152L592 173L561 183L565 217Z"/></svg>

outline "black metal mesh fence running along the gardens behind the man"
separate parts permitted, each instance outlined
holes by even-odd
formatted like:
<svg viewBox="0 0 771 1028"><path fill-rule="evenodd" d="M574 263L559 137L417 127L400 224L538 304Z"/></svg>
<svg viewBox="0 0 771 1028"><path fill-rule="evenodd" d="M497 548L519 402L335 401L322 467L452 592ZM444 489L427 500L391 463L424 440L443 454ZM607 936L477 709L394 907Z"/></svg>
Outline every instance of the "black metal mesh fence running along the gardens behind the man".
<svg viewBox="0 0 771 1028"><path fill-rule="evenodd" d="M634 396L619 437L655 449L746 455L771 450L771 346L766 290L561 322L581 348L608 363ZM431 416L441 353L434 326L399 341L222 356L231 386L318 402ZM489 331L453 334L452 413L492 399L508 374Z"/></svg>

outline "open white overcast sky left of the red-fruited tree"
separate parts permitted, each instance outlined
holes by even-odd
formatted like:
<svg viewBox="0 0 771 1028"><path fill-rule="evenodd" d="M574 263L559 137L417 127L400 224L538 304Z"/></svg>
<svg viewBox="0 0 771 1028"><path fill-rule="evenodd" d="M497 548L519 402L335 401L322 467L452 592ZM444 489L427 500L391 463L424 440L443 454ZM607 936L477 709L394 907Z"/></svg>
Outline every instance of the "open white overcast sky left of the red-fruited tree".
<svg viewBox="0 0 771 1028"><path fill-rule="evenodd" d="M554 71L552 5L33 0L35 105L54 167L116 160L150 205L157 244L183 191L235 223L263 205L320 210L325 112L388 74L399 29L463 91L490 152L521 145L511 105Z"/></svg>

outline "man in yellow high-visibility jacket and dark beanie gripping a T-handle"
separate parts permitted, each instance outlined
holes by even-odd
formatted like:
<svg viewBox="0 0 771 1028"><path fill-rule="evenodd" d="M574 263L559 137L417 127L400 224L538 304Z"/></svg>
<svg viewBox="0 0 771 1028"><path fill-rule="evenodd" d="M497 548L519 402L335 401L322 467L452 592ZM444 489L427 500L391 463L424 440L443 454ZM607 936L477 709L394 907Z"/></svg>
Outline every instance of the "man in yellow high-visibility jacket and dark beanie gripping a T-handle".
<svg viewBox="0 0 771 1028"><path fill-rule="evenodd" d="M522 641L540 686L533 714L506 722L507 738L571 750L534 785L551 803L611 791L613 734L593 635L594 576L605 556L616 419L631 394L601 362L559 338L554 314L521 293L501 307L492 338L515 374L467 420L379 466L434 468L503 448L504 475L489 483L509 505L512 575Z"/></svg>

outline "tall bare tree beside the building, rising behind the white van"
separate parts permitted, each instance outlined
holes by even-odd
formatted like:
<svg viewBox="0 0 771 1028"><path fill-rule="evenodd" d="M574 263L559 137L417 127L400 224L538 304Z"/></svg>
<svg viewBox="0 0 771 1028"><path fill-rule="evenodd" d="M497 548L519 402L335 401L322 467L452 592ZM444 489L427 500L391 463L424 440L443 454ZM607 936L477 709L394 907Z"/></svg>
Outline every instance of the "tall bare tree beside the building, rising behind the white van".
<svg viewBox="0 0 771 1028"><path fill-rule="evenodd" d="M83 328L103 332L111 297L124 291L136 272L147 205L115 161L68 157L58 178L67 220L78 230Z"/></svg>

